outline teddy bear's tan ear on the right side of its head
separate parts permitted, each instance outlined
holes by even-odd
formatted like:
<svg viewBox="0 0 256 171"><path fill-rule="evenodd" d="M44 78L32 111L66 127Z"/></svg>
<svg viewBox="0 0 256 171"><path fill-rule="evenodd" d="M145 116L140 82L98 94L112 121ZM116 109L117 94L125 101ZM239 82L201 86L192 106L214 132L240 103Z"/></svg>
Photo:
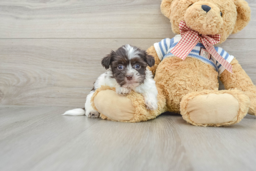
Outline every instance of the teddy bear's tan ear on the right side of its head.
<svg viewBox="0 0 256 171"><path fill-rule="evenodd" d="M251 19L251 9L245 0L235 0L237 17L233 33L242 30Z"/></svg>

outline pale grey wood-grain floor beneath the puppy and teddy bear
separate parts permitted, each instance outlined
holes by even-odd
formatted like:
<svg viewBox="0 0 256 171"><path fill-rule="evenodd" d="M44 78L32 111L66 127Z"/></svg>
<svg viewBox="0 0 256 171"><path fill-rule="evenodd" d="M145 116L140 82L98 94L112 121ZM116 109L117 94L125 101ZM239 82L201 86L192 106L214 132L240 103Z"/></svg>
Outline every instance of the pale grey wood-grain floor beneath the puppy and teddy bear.
<svg viewBox="0 0 256 171"><path fill-rule="evenodd" d="M256 167L256 118L196 127L180 115L122 123L62 116L71 107L0 106L0 170L232 170Z"/></svg>

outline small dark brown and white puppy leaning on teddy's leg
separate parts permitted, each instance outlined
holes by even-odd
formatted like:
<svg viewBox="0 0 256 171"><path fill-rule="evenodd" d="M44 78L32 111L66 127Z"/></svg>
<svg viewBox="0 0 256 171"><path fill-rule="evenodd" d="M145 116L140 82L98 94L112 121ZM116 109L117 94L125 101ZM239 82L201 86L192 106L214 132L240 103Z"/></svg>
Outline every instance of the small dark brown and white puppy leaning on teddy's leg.
<svg viewBox="0 0 256 171"><path fill-rule="evenodd" d="M101 64L107 71L94 82L93 89L86 97L85 110L68 110L63 115L86 115L89 118L98 118L100 113L92 108L90 101L95 90L102 85L115 87L117 94L129 94L131 90L141 93L146 108L157 109L157 89L153 75L147 68L155 65L152 55L126 44L104 57Z"/></svg>

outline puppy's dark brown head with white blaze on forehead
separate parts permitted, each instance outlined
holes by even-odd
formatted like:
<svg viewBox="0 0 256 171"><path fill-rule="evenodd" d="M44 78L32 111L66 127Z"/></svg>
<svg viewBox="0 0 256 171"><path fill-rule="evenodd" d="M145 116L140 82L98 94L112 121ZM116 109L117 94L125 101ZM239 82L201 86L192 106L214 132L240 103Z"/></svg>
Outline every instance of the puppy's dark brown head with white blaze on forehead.
<svg viewBox="0 0 256 171"><path fill-rule="evenodd" d="M155 60L146 51L126 44L104 57L101 64L111 69L121 87L134 88L144 82L146 67L154 66Z"/></svg>

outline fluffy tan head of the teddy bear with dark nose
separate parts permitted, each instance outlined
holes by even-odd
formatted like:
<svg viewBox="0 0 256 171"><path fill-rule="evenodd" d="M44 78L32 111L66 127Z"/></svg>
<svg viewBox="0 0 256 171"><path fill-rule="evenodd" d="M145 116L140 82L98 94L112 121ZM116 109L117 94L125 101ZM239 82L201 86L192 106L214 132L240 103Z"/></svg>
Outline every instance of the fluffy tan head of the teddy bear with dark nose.
<svg viewBox="0 0 256 171"><path fill-rule="evenodd" d="M172 31L179 34L179 23L203 35L221 35L220 43L250 21L251 10L244 0L162 0L162 13L170 19Z"/></svg>

